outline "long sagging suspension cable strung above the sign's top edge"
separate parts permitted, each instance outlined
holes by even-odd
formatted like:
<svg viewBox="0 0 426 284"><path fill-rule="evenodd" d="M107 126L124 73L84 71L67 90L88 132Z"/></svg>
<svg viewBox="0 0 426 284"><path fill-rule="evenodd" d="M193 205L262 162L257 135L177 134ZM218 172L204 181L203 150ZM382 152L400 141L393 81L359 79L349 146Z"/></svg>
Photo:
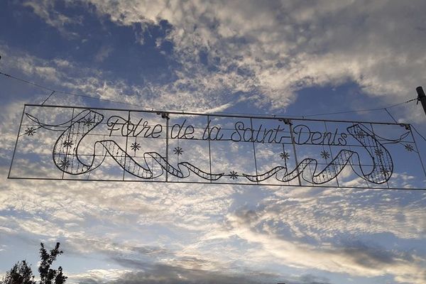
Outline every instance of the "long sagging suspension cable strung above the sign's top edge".
<svg viewBox="0 0 426 284"><path fill-rule="evenodd" d="M26 83L26 84L31 84L31 85L33 85L35 87L39 87L41 89L46 89L46 90L52 92L52 94L53 93L67 94L67 95L76 96L76 97L84 97L84 98L87 98L87 99L97 99L99 101L112 102L112 103L115 103L115 104L126 104L126 105L133 106L133 107L143 107L143 108L146 108L146 106L143 106L141 104L131 104L131 103L128 103L128 102L119 102L119 101L114 101L113 99L102 99L102 98L99 98L99 97L92 97L92 96L89 96L87 94L75 94L75 93L72 93L72 92L64 92L64 91L60 91L60 90L57 90L57 89L52 89L50 87L45 87L45 86L43 86L41 84L36 84L34 82L30 82L28 80L24 80L24 79L16 77L16 76L6 74L4 72L0 72L0 75L3 75L3 76L8 77L8 78L12 78L14 80L18 80L18 81ZM52 94L50 94L50 96ZM49 97L48 97L48 99L49 99ZM45 99L45 102L48 99ZM387 106L387 107L378 107L378 108L374 108L374 109L355 109L355 110L352 110L352 111L336 111L336 112L328 112L328 113L322 113L322 114L307 114L307 115L303 115L303 116L293 116L293 117L302 117L302 118L305 118L305 117L310 117L310 116L324 116L324 115L329 115L329 114L350 114L350 113L354 113L354 112L379 111L379 110L384 109L392 117L393 121L395 121L395 123L398 123L393 118L393 116L389 113L389 111L387 109L391 109L393 107L398 107L398 106L400 106L402 104L408 104L409 102L413 102L413 101L417 101L417 97L414 98L414 99L409 99L408 101L405 101L405 102L400 102L398 104L391 104L390 106ZM43 102L43 104L45 102ZM182 113L185 113L185 112L182 110ZM222 114L231 114L231 113L228 113L228 112L219 112L219 113L222 113ZM276 116L276 115L273 115L273 116Z"/></svg>

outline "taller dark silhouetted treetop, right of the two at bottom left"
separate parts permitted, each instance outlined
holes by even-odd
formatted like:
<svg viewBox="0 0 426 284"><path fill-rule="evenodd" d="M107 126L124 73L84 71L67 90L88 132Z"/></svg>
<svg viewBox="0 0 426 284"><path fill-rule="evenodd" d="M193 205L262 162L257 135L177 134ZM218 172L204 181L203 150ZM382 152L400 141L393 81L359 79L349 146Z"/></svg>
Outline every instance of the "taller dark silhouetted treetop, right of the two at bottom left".
<svg viewBox="0 0 426 284"><path fill-rule="evenodd" d="M40 284L63 284L67 280L67 276L62 274L62 267L58 270L50 268L56 257L63 253L59 250L59 243L56 243L55 249L52 249L50 253L46 251L44 244L40 243L40 258L41 263L38 266L38 272L40 273ZM55 281L55 282L53 282Z"/></svg>

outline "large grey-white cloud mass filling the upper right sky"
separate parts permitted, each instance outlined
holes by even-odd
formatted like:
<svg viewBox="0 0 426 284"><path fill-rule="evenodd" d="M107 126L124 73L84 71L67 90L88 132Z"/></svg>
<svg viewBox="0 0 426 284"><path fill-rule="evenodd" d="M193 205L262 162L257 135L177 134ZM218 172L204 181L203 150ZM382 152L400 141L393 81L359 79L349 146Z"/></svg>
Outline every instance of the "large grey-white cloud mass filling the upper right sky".
<svg viewBox="0 0 426 284"><path fill-rule="evenodd" d="M408 99L421 80L422 2L85 2L119 25L168 21L182 65L176 83L187 78L211 94L247 92L273 109L287 107L299 89L347 81L388 102Z"/></svg>

